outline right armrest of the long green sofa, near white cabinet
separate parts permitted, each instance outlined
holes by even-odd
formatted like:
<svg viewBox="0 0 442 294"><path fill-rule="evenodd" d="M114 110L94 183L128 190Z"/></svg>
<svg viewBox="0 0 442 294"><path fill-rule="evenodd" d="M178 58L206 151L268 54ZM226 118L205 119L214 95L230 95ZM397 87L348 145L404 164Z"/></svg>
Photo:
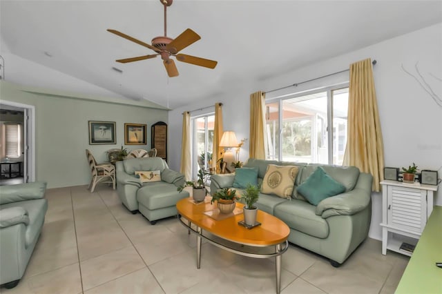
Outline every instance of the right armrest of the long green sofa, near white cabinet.
<svg viewBox="0 0 442 294"><path fill-rule="evenodd" d="M361 173L353 190L319 202L316 215L327 218L333 215L354 215L364 210L372 200L372 182L372 175Z"/></svg>

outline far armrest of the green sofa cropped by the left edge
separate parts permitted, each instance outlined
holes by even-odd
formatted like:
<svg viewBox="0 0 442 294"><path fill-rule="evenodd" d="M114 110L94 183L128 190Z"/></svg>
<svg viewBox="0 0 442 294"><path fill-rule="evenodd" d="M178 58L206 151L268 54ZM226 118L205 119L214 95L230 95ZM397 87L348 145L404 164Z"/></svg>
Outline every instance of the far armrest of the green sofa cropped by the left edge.
<svg viewBox="0 0 442 294"><path fill-rule="evenodd" d="M0 204L44 198L46 182L0 186Z"/></svg>

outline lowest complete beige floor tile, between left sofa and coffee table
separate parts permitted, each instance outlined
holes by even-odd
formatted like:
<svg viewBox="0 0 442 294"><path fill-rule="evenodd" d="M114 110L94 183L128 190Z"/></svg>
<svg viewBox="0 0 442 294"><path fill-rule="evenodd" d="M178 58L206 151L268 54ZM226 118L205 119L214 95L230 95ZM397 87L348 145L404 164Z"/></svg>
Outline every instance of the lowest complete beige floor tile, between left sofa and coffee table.
<svg viewBox="0 0 442 294"><path fill-rule="evenodd" d="M133 246L81 261L80 265L84 291L146 267Z"/></svg>

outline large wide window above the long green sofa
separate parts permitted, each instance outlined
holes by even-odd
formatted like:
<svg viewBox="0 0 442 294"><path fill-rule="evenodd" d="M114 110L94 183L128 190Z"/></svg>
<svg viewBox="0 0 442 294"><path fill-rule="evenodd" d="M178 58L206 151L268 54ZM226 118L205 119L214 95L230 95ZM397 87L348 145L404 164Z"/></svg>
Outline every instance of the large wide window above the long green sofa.
<svg viewBox="0 0 442 294"><path fill-rule="evenodd" d="M347 85L271 99L266 104L267 159L342 164L347 110Z"/></svg>

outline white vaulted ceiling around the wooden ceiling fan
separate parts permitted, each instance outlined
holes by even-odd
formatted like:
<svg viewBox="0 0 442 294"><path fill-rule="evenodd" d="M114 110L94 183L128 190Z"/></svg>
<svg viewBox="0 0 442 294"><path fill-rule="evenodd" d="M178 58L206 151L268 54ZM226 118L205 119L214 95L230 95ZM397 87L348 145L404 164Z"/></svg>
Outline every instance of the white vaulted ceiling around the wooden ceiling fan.
<svg viewBox="0 0 442 294"><path fill-rule="evenodd" d="M153 51L106 29L151 43L164 33L163 12L158 0L0 0L0 52L129 99L177 108L227 95L243 81L259 84L308 63L439 23L442 1L175 0L167 10L167 35L177 37L191 28L201 39L182 53L216 60L218 66L210 70L176 61L180 76L169 78L160 57L115 62ZM20 83L19 75L13 74L17 71L11 72L7 79ZM58 88L55 83L46 86Z"/></svg>

